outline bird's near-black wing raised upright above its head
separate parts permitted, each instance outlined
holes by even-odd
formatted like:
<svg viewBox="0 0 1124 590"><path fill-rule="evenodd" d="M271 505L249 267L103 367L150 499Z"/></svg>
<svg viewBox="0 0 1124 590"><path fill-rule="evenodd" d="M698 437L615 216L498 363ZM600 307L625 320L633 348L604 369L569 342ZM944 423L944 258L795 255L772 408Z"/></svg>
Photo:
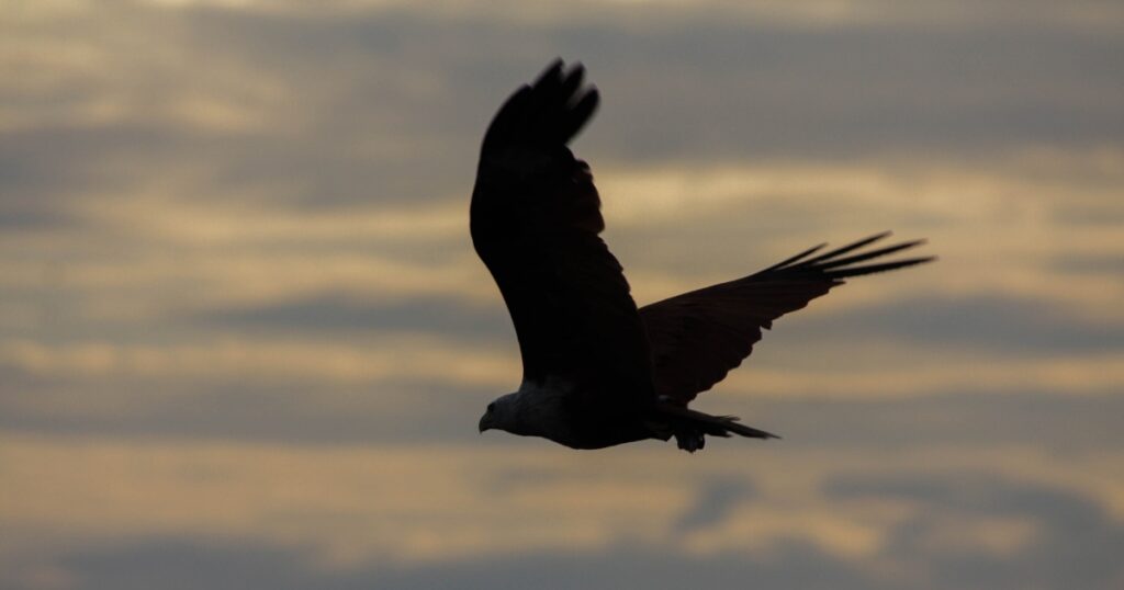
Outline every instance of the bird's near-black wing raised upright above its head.
<svg viewBox="0 0 1124 590"><path fill-rule="evenodd" d="M580 382L597 402L651 402L647 341L605 228L589 166L566 147L597 107L561 61L500 108L472 193L477 253L504 296L524 379Z"/></svg>

